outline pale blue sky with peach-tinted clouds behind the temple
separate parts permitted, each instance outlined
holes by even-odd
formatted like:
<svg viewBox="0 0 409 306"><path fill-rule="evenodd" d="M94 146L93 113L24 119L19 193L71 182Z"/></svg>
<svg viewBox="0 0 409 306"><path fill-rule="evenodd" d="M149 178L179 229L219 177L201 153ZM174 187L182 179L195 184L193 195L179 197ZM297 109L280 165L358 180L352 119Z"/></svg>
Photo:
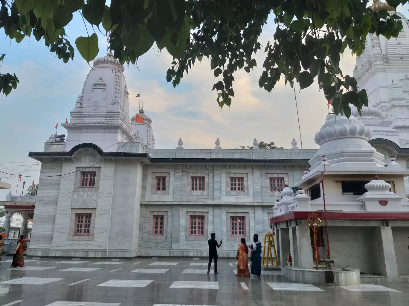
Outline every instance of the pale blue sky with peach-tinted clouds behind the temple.
<svg viewBox="0 0 409 306"><path fill-rule="evenodd" d="M398 7L408 15L408 4ZM210 61L196 61L192 70L180 84L173 88L166 83L166 71L173 61L166 50L159 52L154 44L138 60L138 65L126 65L125 78L129 90L130 116L138 112L141 93L144 111L152 118L152 128L157 149L176 148L181 137L186 149L213 149L216 138L223 149L240 145L252 145L258 141L274 141L285 149L291 147L292 138L301 148L294 91L281 81L268 93L258 87L258 78L264 61L264 46L272 40L275 25L273 18L267 20L259 42L261 51L256 53L257 67L250 74L238 71L233 84L235 96L230 108L222 109L216 102L217 93L211 91L215 78ZM75 47L78 36L86 36L81 16L65 27L68 39ZM88 31L92 28L88 24ZM99 56L107 53L106 38L99 34ZM3 29L0 30L0 52L6 53L1 63L2 73L16 73L20 84L7 97L0 95L0 179L10 183L13 195L25 193L32 181L38 183L39 162L28 157L29 151L43 151L44 142L55 133L57 122L70 120L74 105L90 67L75 50L74 60L64 64L50 53L44 42L25 38L20 44L10 42ZM92 62L90 62L92 64ZM355 55L346 50L339 64L345 74L352 75ZM299 91L296 85L301 137L304 149L316 149L314 135L324 124L328 114L324 94L319 92L317 82ZM59 128L58 133L63 133ZM69 137L69 135L68 135ZM33 165L37 163L36 165ZM17 187L18 173L26 181ZM31 177L33 176L33 177ZM0 201L5 200L7 190L0 190Z"/></svg>

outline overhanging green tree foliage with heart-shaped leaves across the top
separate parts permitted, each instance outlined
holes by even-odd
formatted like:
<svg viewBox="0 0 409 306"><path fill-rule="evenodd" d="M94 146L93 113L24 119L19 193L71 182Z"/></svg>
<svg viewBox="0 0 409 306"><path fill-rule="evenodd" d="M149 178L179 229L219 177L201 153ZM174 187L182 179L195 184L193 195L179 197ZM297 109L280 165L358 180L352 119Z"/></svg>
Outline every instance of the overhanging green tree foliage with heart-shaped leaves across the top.
<svg viewBox="0 0 409 306"><path fill-rule="evenodd" d="M270 92L283 76L285 84L297 82L303 89L317 77L335 113L349 117L349 104L360 111L368 106L368 97L365 89L358 91L354 78L343 75L340 54L349 47L360 55L368 33L398 36L401 18L387 9L408 0L386 1L385 9L370 7L368 0L111 0L109 7L106 0L0 0L0 29L18 43L32 34L66 63L74 48L64 27L78 12L87 36L76 38L75 45L87 62L99 51L97 31L105 31L109 49L122 64L135 64L156 44L174 58L166 72L174 87L206 56L216 78L216 100L223 107L234 97L233 74L256 67L254 54L262 47L258 40L273 14L276 30L263 46L258 85ZM16 75L0 73L5 95L17 83Z"/></svg>

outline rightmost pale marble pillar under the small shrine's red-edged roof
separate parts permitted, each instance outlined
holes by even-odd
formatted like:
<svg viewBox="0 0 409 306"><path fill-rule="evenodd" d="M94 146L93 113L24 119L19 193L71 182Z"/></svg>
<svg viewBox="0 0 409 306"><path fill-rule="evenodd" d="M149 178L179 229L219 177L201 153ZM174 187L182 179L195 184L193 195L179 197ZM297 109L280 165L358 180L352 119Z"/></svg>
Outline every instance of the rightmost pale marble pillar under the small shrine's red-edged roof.
<svg viewBox="0 0 409 306"><path fill-rule="evenodd" d="M395 246L393 245L392 227L376 227L376 238L378 242L378 258L381 274L384 276L398 276L396 264Z"/></svg>

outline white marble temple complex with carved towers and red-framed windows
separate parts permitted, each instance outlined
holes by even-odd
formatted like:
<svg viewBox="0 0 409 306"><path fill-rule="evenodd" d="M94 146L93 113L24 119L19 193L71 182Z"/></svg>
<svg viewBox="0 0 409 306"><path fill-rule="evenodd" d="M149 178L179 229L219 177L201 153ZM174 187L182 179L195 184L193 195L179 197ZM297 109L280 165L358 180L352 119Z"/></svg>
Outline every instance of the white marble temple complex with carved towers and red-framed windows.
<svg viewBox="0 0 409 306"><path fill-rule="evenodd" d="M124 66L110 53L97 58L66 138L29 152L42 163L37 195L1 202L7 238L13 214L27 233L34 210L31 257L205 257L212 232L223 239L219 257L236 257L241 237L272 233L293 281L409 275L409 29L398 15L398 38L368 35L357 58L369 107L328 114L319 149L299 149L292 135L289 149L259 149L256 139L248 150L222 139L184 149L183 131L174 148L155 149L149 111L130 118Z"/></svg>

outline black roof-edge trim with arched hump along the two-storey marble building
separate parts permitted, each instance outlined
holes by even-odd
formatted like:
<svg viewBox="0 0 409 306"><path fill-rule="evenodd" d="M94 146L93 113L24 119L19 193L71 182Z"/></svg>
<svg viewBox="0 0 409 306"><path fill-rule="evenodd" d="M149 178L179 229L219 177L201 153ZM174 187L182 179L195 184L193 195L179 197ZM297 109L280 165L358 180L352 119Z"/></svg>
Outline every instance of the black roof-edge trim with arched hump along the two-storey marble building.
<svg viewBox="0 0 409 306"><path fill-rule="evenodd" d="M71 157L76 151L90 148L101 157L146 158L155 164L308 164L307 159L261 159L261 158L151 158L148 153L103 152L90 143L78 144L70 152L29 152L29 157Z"/></svg>

